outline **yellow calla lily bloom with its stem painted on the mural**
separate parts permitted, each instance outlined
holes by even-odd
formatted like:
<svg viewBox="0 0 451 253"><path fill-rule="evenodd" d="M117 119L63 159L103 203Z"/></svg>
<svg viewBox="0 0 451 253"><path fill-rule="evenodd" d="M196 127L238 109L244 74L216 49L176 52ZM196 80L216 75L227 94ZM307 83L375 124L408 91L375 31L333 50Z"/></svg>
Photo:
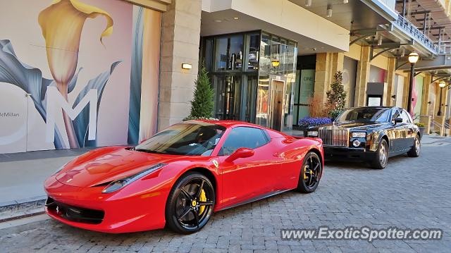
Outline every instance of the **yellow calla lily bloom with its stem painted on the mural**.
<svg viewBox="0 0 451 253"><path fill-rule="evenodd" d="M68 83L73 79L78 63L78 51L83 25L87 18L104 16L106 28L100 36L100 42L113 32L113 19L100 8L83 4L78 0L55 0L51 6L39 13L39 25L42 28L47 50L47 61L56 87L68 100ZM62 111L64 125L71 148L80 147L75 135L73 123L68 113Z"/></svg>

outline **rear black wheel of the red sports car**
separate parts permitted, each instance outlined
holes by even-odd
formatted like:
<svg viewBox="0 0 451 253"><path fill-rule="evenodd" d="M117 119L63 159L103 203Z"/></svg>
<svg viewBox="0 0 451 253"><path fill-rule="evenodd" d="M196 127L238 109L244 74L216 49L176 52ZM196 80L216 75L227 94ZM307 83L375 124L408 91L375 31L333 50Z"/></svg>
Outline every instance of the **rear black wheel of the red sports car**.
<svg viewBox="0 0 451 253"><path fill-rule="evenodd" d="M301 175L299 175L296 190L304 193L314 192L319 185L322 171L323 164L318 154L309 152L302 162Z"/></svg>

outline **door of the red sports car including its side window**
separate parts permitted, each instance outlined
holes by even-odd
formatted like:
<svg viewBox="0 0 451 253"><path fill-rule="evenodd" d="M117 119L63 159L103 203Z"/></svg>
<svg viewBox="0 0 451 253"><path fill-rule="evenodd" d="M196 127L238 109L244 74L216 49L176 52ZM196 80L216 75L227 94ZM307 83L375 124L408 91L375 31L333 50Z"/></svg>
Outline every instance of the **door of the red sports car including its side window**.
<svg viewBox="0 0 451 253"><path fill-rule="evenodd" d="M226 161L240 147L254 150L254 155ZM278 157L264 130L237 127L230 130L220 149L218 160L223 180L223 204L233 206L258 199L275 191L278 182Z"/></svg>

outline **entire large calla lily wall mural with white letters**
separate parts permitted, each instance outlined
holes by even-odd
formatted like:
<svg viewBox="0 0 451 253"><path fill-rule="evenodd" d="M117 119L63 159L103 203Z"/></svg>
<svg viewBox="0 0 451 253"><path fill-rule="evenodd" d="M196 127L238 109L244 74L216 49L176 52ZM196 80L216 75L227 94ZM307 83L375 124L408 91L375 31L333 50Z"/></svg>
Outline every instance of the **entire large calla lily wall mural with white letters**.
<svg viewBox="0 0 451 253"><path fill-rule="evenodd" d="M21 115L42 120L25 122L20 140L0 128L0 137L8 140L0 142L0 153L8 152L8 145L25 152L135 144L142 132L155 128L154 115L142 121L141 116L158 103L153 97L158 97L159 66L149 64L159 62L161 13L111 0L35 0L27 6L8 1L4 7L26 11L0 16L1 23L11 23L0 35L0 88L11 85L21 92L19 87L27 97L0 92L0 100L11 104L8 110L27 103L19 106L28 108ZM14 23L27 25L20 30ZM142 88L156 92L153 100L143 97ZM1 124L16 123L3 118Z"/></svg>

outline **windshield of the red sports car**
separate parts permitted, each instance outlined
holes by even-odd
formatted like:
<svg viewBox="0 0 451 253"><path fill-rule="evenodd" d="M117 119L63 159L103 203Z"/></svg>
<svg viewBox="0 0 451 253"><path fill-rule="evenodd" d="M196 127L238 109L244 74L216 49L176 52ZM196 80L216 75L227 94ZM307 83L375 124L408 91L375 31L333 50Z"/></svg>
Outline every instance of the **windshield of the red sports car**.
<svg viewBox="0 0 451 253"><path fill-rule="evenodd" d="M156 154L209 156L226 128L203 122L187 122L169 128L138 144L136 151Z"/></svg>

